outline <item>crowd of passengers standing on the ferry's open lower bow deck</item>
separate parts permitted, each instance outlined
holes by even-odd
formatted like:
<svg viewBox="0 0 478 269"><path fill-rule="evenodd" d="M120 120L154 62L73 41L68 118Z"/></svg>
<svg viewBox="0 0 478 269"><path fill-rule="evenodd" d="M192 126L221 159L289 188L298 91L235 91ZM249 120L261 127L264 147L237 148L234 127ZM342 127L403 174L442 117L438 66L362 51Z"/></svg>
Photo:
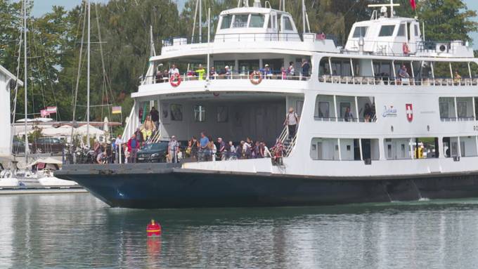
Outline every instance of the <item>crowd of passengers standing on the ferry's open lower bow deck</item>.
<svg viewBox="0 0 478 269"><path fill-rule="evenodd" d="M299 116L290 107L286 114L284 125L288 126L289 138L295 136ZM107 163L136 163L138 161L138 150L155 135L159 129L159 112L152 107L149 114L146 115L141 127L131 134L129 140L123 140L122 135L118 135L113 143L98 143L93 147L94 157L98 164ZM187 147L182 147L181 142L172 136L167 147L167 162L176 163L185 157L193 161L207 162L231 159L260 159L271 158L273 162L279 162L283 157L285 147L282 141L276 140L276 144L269 149L264 140L252 140L246 138L238 143L226 141L224 138L214 140L212 136L205 131L200 133L200 138L193 136L187 141Z"/></svg>

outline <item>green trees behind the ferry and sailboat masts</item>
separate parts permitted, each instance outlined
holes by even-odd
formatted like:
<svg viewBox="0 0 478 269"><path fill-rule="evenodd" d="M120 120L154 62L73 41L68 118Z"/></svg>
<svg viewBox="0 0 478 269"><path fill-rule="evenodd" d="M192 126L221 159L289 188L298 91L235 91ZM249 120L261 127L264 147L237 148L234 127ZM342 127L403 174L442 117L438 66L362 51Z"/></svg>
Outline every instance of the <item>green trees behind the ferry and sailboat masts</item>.
<svg viewBox="0 0 478 269"><path fill-rule="evenodd" d="M252 0L250 0L252 5ZM359 20L368 20L372 10L368 4L384 3L385 0L306 0L311 32L324 32L336 37L338 44L344 44L351 25ZM409 0L398 1L396 15L418 16L425 22L427 41L464 40L471 41L470 32L478 30L473 18L475 11L467 9L463 0L422 0L418 1L417 12L412 11ZM278 8L279 1L270 1ZM302 32L300 0L286 1L286 11L292 14L299 32ZM32 1L27 1L31 11ZM262 3L264 5L264 3ZM221 11L234 8L237 1L203 0L202 8L212 13L212 36ZM0 0L0 65L13 74L17 73L22 28L21 2ZM202 22L206 29L206 14ZM129 114L133 100L129 97L138 87L138 78L146 73L150 54L150 26L156 53L160 54L163 39L188 37L192 33L195 0L186 1L179 8L170 0L111 0L106 4L91 3L91 120L120 122L119 115L111 114L111 106L122 106L124 115ZM58 107L58 120L72 120L77 75L80 74L77 121L86 115L86 53L82 55L82 69L78 72L79 51L82 44L82 30L85 19L84 5L66 10L53 6L50 13L28 20L28 60L30 79L28 84L30 112L38 113L47 106ZM100 34L98 35L98 29ZM198 31L196 31L197 33ZM202 40L207 40L207 31ZM101 61L102 43L104 72ZM196 37L197 39L197 37ZM195 40L198 41L198 40ZM86 37L84 41L86 42ZM84 46L83 49L85 49ZM476 53L475 53L476 55ZM167 64L167 63L164 63ZM19 77L22 77L20 59ZM11 100L15 91L11 91ZM22 88L18 90L17 119L24 117ZM109 106L108 106L109 105ZM13 104L12 106L13 107ZM36 116L36 115L35 115ZM30 115L30 117L33 117ZM123 117L124 119L124 117ZM119 127L121 129L121 127ZM113 130L118 132L120 129Z"/></svg>

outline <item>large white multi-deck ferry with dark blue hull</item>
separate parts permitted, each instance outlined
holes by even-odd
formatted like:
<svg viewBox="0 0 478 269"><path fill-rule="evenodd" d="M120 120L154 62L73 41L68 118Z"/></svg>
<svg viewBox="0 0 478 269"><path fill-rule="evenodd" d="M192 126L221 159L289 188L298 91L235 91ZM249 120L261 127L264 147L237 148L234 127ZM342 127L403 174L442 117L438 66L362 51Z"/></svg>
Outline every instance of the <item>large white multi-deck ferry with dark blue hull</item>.
<svg viewBox="0 0 478 269"><path fill-rule="evenodd" d="M281 164L262 158L70 165L56 175L110 206L134 208L476 197L478 60L466 42L425 41L419 21L397 17L394 6L379 5L370 20L356 22L341 47L325 34L297 32L290 13L268 2L240 2L221 12L214 39L164 41L150 58L131 95L124 138L155 106L159 140L189 140L202 131L269 146L279 139ZM295 73L283 74L291 62ZM218 74L156 77L173 64L201 64ZM272 74L264 75L266 65ZM289 107L299 116L292 138L283 126Z"/></svg>

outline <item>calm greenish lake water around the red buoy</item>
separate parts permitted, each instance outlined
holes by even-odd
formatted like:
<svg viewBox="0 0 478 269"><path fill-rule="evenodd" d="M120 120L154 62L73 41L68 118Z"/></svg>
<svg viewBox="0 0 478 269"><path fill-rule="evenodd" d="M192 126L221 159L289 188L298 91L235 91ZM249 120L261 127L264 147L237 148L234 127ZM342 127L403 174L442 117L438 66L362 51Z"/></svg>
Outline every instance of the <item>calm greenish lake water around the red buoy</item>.
<svg viewBox="0 0 478 269"><path fill-rule="evenodd" d="M0 196L0 268L478 268L478 200L129 210Z"/></svg>

